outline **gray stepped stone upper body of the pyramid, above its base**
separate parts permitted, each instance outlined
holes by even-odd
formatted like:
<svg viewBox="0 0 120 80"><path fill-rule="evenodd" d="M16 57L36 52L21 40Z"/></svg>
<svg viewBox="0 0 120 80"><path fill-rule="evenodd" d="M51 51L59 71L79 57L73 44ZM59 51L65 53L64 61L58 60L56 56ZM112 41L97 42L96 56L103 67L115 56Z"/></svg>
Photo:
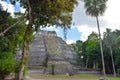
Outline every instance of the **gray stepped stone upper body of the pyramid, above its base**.
<svg viewBox="0 0 120 80"><path fill-rule="evenodd" d="M55 31L40 30L30 45L29 66L43 65L48 61L70 62L75 56L74 50Z"/></svg>

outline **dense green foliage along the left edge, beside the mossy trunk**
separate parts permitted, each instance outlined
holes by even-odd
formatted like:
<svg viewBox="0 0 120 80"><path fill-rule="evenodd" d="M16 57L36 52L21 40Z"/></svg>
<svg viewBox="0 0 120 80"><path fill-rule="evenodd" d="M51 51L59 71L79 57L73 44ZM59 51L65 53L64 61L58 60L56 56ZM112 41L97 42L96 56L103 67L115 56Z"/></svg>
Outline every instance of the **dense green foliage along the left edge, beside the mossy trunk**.
<svg viewBox="0 0 120 80"><path fill-rule="evenodd" d="M17 18L12 18L9 13L2 9L0 13L0 32L2 32L15 23ZM22 46L21 43L25 31L25 24L23 22L21 23L22 24L17 25L15 28L11 28L4 35L0 36L0 78L2 78L2 80L11 72L15 71L16 48Z"/></svg>

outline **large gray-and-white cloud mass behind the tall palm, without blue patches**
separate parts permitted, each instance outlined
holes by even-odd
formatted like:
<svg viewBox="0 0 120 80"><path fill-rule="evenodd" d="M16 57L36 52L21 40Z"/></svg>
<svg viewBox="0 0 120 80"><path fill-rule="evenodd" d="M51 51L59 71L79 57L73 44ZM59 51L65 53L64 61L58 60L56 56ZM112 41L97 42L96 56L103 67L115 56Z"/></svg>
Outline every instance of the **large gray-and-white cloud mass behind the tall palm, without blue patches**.
<svg viewBox="0 0 120 80"><path fill-rule="evenodd" d="M104 16L99 17L102 35L106 28L110 28L112 30L120 29L119 3L120 0L108 0L108 7ZM75 8L73 12L73 22L81 33L80 39L83 41L87 39L88 35L90 35L92 31L98 33L96 19L86 15L83 2L79 2L79 5Z"/></svg>

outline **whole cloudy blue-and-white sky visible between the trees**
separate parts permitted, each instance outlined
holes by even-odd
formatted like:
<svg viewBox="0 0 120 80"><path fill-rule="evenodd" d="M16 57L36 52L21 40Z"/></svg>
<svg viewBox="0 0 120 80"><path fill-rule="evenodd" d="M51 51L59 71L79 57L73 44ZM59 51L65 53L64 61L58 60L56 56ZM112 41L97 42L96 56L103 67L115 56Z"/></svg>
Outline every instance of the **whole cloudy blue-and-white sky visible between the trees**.
<svg viewBox="0 0 120 80"><path fill-rule="evenodd" d="M4 6L4 10L8 8L8 12L14 15L14 11L24 12L25 9L19 7L19 3L16 3L15 7L9 3L8 0L5 2L0 0L0 3ZM106 28L112 30L120 29L120 0L108 0L107 9L103 16L99 17L101 34L105 32ZM75 43L76 40L85 41L89 34L93 31L98 33L96 19L86 15L84 3L79 1L79 4L75 6L72 16L71 29L67 31L68 44ZM56 31L59 37L63 38L63 30L61 28L55 28L55 26L45 28L44 30Z"/></svg>

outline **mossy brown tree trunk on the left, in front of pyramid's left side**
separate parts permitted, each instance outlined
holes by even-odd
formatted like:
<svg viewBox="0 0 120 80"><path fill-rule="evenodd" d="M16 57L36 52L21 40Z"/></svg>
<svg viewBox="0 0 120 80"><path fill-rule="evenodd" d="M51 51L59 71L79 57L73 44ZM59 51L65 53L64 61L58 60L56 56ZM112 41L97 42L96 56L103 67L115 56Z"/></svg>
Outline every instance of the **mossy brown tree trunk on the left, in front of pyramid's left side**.
<svg viewBox="0 0 120 80"><path fill-rule="evenodd" d="M24 35L24 42L23 42L23 48L22 48L22 60L20 69L18 72L17 80L24 80L25 76L23 75L23 72L25 70L25 67L27 66L27 58L28 58L28 50L29 50L29 43L30 43L30 36L32 34L32 15L31 15L31 6L30 1L26 0L28 5L28 19L29 24L26 28L25 35Z"/></svg>

